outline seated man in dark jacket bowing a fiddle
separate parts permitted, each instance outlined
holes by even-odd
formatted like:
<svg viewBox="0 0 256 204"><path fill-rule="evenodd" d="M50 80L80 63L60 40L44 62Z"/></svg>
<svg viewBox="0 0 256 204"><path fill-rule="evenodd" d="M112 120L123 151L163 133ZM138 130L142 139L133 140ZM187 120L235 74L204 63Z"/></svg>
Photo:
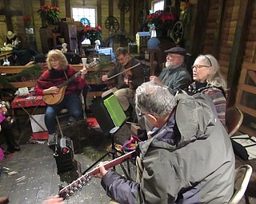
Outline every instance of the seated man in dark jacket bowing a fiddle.
<svg viewBox="0 0 256 204"><path fill-rule="evenodd" d="M102 76L103 82L113 77L115 87L103 92L102 97L113 92L126 116L130 116L133 107L130 105L129 99L134 98L136 88L144 82L144 70L139 61L130 55L125 48L119 47L116 49L115 57L118 61L117 65L109 73ZM133 66L134 68L130 69Z"/></svg>

